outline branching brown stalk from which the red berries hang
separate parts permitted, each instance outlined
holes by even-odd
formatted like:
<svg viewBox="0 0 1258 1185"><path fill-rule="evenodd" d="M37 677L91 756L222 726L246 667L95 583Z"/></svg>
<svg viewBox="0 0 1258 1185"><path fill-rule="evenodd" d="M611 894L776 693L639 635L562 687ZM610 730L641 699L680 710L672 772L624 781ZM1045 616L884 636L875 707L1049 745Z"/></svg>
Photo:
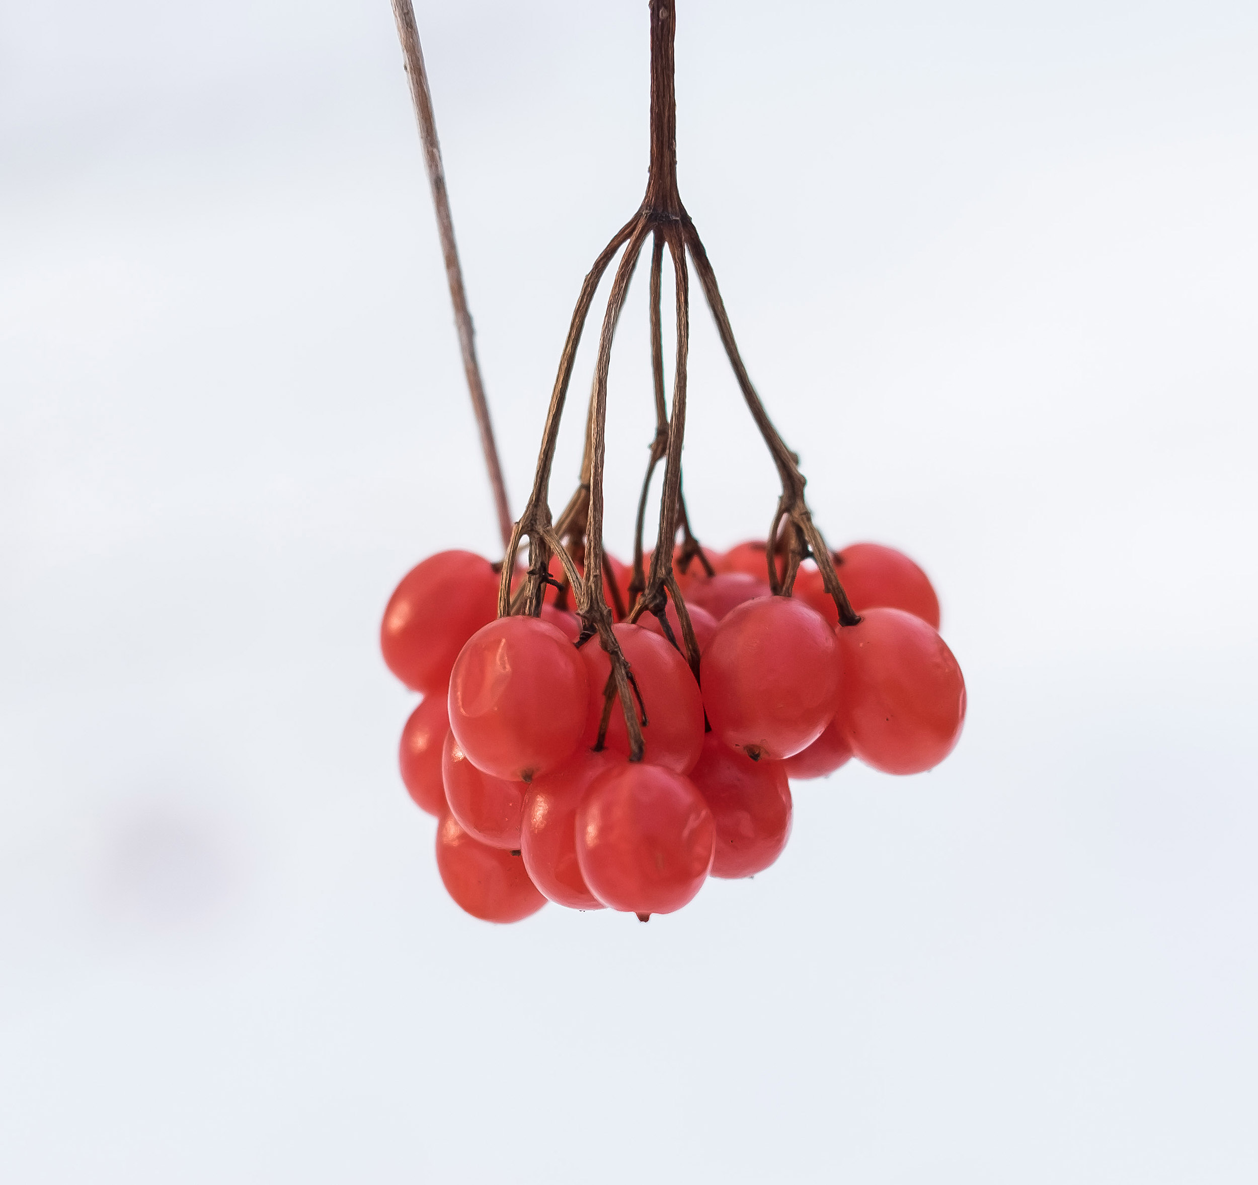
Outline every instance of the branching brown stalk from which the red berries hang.
<svg viewBox="0 0 1258 1185"><path fill-rule="evenodd" d="M405 0L395 0L405 3ZM560 355L559 375L551 392L546 426L542 433L542 445L537 457L537 472L533 488L523 515L515 526L507 545L507 555L502 569L502 584L498 590L498 613L541 613L546 581L550 577L550 560L557 555L564 566L565 577L575 598L576 610L581 618L581 633L577 645L584 645L598 635L599 643L608 653L611 670L605 689L606 702L599 730L599 747L606 733L610 711L615 699L620 701L625 726L629 732L630 760L643 756L642 728L645 726L647 704L642 702L633 672L613 633L611 610L604 596L604 548L603 548L603 482L606 454L606 414L608 414L608 371L611 364L611 346L615 338L620 311L624 307L634 268L645 244L652 235L650 259L650 342L652 342L652 385L655 405L655 437L650 447L650 459L643 482L642 497L638 502L638 516L634 533L634 575L629 586L630 604L618 605L619 615L629 609L630 620L638 620L643 613L655 614L664 635L674 644L678 640L667 619L669 599L677 610L681 625L681 647L694 672L699 677L699 654L694 639L694 629L686 600L673 572L673 548L677 533L683 533L683 545L678 555L679 564L688 564L698 557L708 575L711 564L691 531L686 502L682 497L682 448L686 437L686 394L687 361L689 352L689 263L698 275L699 287L707 299L708 308L716 321L717 332L725 346L726 356L733 369L738 387L747 404L751 416L765 440L769 453L777 467L781 479L781 497L774 513L772 526L766 543L766 566L769 582L774 592L790 595L800 564L805 559L816 561L825 581L827 591L834 598L843 625L853 625L860 619L852 610L847 594L834 571L834 564L820 531L813 522L811 512L804 497L804 476L799 468L799 458L786 447L772 421L765 411L760 396L751 382L738 346L730 326L730 318L721 299L716 273L708 260L707 252L699 239L694 224L682 205L677 187L677 103L673 86L673 42L676 33L674 0L653 0L650 33L650 176L647 194L634 216L616 233L603 253L594 262L585 283L581 287L572 322L569 327L564 352ZM616 252L624 247L624 254L616 267L611 292L608 297L603 328L599 335L599 353L594 370L594 382L590 394L590 406L586 419L586 444L581 463L581 478L557 522L551 522L550 478L555 459L555 445L559 439L560 420L567 386L572 376L576 350L581 332L589 316L595 289L603 273L610 265ZM663 253L668 248L676 281L674 308L677 313L677 348L673 371L672 408L669 410L664 391L663 331L660 320L660 288L663 272ZM655 467L664 463L664 482L659 504L659 530L649 571L644 570L643 528L645 525L647 501ZM515 572L516 554L525 537L530 542L528 574L520 591L512 598L511 584ZM785 548L782 550L782 545ZM779 570L779 559L784 559ZM584 570L582 570L584 565ZM613 590L615 596L615 590ZM637 697L637 708L634 699Z"/></svg>

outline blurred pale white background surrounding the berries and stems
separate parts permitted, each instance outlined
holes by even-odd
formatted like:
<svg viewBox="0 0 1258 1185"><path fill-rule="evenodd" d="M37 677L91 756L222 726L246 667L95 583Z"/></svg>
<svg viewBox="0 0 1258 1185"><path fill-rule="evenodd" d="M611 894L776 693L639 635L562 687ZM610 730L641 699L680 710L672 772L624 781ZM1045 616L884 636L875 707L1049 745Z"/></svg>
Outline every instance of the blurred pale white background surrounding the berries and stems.
<svg viewBox="0 0 1258 1185"><path fill-rule="evenodd" d="M463 916L376 650L496 548L389 5L5 0L5 1181L1258 1175L1258 9L679 8L684 199L823 530L935 579L960 747L649 926ZM418 15L518 511L647 14ZM693 322L725 546L774 472Z"/></svg>

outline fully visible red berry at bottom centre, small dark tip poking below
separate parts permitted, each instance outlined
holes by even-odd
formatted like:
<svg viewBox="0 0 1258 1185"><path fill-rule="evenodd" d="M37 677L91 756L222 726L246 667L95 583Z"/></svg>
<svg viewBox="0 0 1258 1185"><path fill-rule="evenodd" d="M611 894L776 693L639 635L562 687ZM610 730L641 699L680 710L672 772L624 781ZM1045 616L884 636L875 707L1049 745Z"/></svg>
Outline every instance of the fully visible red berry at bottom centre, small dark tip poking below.
<svg viewBox="0 0 1258 1185"><path fill-rule="evenodd" d="M576 810L576 859L611 910L672 913L712 867L712 811L688 777L625 762L594 780Z"/></svg>

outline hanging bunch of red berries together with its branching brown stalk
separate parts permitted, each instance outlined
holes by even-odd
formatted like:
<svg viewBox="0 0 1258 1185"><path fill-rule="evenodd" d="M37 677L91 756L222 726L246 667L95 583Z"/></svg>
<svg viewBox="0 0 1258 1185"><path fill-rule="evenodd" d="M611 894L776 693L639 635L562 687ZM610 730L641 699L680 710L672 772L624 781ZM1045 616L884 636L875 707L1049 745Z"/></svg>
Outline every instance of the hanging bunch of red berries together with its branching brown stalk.
<svg viewBox="0 0 1258 1185"><path fill-rule="evenodd" d="M951 752L965 718L965 683L937 633L926 575L889 547L825 546L798 458L747 376L677 190L673 0L654 0L650 11L650 181L582 286L506 556L430 556L403 579L381 628L389 668L424 696L403 732L403 780L440 820L437 860L450 896L488 921L518 921L547 899L642 920L671 913L708 876L747 877L779 857L790 779L825 776L852 756L888 774L928 770ZM657 431L625 565L603 547L608 367L648 236ZM665 249L677 313L671 399ZM618 253L581 479L552 521L551 463L572 364ZM697 542L682 496L689 267L781 479L766 542L725 555ZM659 528L645 552L660 462Z"/></svg>

